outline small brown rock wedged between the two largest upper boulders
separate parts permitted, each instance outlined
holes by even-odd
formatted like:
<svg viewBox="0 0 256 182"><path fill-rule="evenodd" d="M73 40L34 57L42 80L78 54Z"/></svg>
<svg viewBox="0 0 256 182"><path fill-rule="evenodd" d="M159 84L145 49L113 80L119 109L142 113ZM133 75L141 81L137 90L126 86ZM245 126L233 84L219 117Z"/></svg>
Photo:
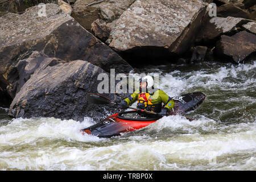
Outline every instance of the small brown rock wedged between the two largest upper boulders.
<svg viewBox="0 0 256 182"><path fill-rule="evenodd" d="M102 19L97 19L92 23L93 34L103 42L109 38L110 31L110 27Z"/></svg>

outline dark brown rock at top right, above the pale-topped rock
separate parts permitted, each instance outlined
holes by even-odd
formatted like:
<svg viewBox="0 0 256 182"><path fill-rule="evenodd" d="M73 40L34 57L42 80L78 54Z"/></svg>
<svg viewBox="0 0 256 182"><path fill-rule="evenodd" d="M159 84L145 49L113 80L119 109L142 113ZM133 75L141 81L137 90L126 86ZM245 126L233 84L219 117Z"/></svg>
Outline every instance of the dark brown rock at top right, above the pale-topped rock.
<svg viewBox="0 0 256 182"><path fill-rule="evenodd" d="M217 8L218 17L233 16L237 18L250 19L250 13L247 10L242 10L233 3L226 3Z"/></svg>

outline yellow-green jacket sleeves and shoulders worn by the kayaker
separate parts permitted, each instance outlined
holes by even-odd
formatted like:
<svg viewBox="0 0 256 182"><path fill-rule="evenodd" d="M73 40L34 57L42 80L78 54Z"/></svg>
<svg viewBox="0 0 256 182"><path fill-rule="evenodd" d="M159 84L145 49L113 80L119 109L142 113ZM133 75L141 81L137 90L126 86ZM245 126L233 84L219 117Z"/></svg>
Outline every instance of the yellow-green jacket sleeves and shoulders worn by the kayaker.
<svg viewBox="0 0 256 182"><path fill-rule="evenodd" d="M155 113L159 113L162 110L162 102L165 104L164 107L166 107L168 110L171 110L174 108L174 100L171 99L165 92L159 89L154 89L151 91L148 91L150 93L150 99L151 103L153 105L152 107L147 108L147 110L152 110ZM133 104L135 101L138 100L139 96L139 90L135 90L133 94L131 94L128 98L125 99L127 102L127 105Z"/></svg>

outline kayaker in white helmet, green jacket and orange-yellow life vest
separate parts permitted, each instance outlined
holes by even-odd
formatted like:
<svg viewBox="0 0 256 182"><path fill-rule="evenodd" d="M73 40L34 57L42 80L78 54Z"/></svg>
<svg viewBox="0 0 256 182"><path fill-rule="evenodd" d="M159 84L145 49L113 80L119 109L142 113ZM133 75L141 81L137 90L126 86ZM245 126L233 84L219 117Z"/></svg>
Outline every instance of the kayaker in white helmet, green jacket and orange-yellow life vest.
<svg viewBox="0 0 256 182"><path fill-rule="evenodd" d="M151 76L144 76L139 80L139 90L135 90L128 98L120 102L119 109L127 109L138 100L137 108L152 111L159 115L167 115L174 108L175 102L162 90L154 88L154 80ZM162 109L162 102L165 104Z"/></svg>

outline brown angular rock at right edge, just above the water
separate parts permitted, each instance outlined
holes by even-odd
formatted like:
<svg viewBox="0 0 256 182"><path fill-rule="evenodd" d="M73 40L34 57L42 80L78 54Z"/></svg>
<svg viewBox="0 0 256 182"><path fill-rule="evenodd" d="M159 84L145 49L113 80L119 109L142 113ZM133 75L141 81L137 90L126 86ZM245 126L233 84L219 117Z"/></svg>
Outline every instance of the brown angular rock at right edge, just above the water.
<svg viewBox="0 0 256 182"><path fill-rule="evenodd" d="M247 56L256 51L256 35L246 31L238 32L233 36L222 35L216 44L216 53L222 59L243 63Z"/></svg>

